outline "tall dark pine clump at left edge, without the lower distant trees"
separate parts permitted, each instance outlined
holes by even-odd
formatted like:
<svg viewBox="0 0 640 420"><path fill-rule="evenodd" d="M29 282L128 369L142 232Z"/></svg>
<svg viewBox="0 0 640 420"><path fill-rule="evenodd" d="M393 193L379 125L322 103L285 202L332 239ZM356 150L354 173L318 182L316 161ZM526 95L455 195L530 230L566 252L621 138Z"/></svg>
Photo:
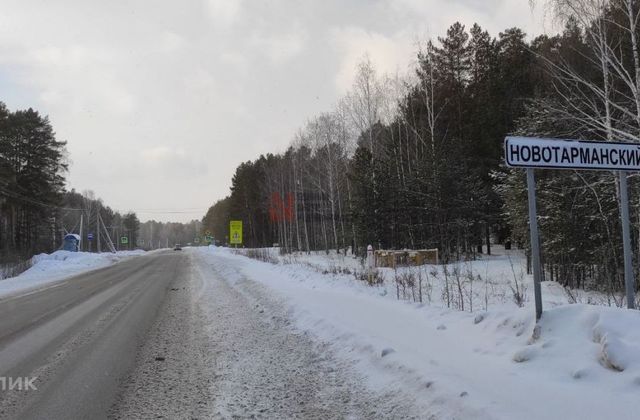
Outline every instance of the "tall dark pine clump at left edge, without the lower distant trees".
<svg viewBox="0 0 640 420"><path fill-rule="evenodd" d="M65 143L47 117L0 102L0 255L26 255L59 243L67 171Z"/></svg>

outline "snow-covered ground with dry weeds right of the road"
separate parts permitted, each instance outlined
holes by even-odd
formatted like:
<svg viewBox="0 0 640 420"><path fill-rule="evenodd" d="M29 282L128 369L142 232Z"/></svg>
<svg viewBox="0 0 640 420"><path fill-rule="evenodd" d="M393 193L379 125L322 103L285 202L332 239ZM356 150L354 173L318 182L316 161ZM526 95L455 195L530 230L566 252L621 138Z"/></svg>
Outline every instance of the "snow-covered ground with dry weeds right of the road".
<svg viewBox="0 0 640 420"><path fill-rule="evenodd" d="M350 257L274 253L272 264L228 249L194 252L232 284L268 286L290 305L298 329L331 343L373 388L402 389L435 418L637 418L640 312L569 304L606 299L570 298L545 283L535 328L533 287L517 252L448 266L446 275L423 267L414 273L422 276L422 304L412 294L397 300L391 269L377 287L357 280L361 265ZM525 289L522 307L516 283Z"/></svg>

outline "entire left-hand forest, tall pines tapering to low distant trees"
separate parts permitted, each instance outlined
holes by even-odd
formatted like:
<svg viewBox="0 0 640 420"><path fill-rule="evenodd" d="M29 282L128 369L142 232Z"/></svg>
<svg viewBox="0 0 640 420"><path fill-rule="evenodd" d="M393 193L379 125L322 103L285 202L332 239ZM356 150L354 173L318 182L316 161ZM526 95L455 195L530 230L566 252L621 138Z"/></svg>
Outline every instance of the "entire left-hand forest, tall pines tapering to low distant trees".
<svg viewBox="0 0 640 420"><path fill-rule="evenodd" d="M41 252L61 248L66 233L82 234L81 251L154 249L192 242L200 222L141 223L93 191L66 189L66 144L47 117L31 108L10 111L0 102L0 265L25 267ZM88 240L88 234L93 240ZM126 236L127 244L119 238Z"/></svg>

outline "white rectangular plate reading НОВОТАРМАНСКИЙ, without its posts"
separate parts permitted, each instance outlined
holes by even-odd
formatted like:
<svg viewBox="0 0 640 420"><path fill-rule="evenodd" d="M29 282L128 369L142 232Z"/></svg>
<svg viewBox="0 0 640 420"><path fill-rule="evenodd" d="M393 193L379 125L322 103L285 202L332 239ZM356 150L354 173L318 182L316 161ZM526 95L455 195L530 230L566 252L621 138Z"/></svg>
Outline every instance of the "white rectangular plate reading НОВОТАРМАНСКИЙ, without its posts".
<svg viewBox="0 0 640 420"><path fill-rule="evenodd" d="M507 166L640 171L640 144L507 137Z"/></svg>

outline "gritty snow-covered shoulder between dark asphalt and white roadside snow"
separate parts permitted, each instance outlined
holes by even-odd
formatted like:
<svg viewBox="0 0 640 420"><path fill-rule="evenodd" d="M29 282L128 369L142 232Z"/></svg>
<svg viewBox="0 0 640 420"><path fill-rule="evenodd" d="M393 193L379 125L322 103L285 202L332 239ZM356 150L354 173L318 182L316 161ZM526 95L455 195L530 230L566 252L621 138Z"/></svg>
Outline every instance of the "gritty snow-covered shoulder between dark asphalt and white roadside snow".
<svg viewBox="0 0 640 420"><path fill-rule="evenodd" d="M400 391L370 389L265 286L230 277L231 261L189 254L192 276L169 294L114 417L429 418Z"/></svg>

